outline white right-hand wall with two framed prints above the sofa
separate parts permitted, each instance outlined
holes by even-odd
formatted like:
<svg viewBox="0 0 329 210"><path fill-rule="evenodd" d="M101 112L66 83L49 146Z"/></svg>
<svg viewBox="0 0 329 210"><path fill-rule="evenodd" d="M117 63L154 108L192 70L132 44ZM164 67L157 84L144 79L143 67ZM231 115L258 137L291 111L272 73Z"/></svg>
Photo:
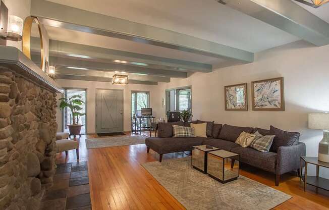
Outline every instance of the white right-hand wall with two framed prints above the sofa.
<svg viewBox="0 0 329 210"><path fill-rule="evenodd" d="M322 131L307 128L307 114L329 111L328 53L329 46L315 47L297 41L257 53L251 64L206 74L194 73L187 79L160 83L159 94L165 97L165 89L192 85L193 119L265 129L273 125L298 131L300 140L306 143L307 155L317 156ZM275 77L284 77L286 111L251 111L250 82ZM224 86L245 82L248 83L249 111L225 111ZM164 115L165 108L161 107L157 113Z"/></svg>

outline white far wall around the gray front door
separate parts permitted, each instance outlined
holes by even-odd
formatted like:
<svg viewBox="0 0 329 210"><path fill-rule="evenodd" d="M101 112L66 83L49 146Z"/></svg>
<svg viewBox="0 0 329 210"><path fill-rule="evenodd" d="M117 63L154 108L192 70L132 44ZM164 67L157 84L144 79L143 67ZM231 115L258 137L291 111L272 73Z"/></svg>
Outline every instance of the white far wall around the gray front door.
<svg viewBox="0 0 329 210"><path fill-rule="evenodd" d="M150 92L150 108L153 108L153 116L157 116L158 109L155 107L161 106L161 99L158 99L158 89L155 85L140 85L140 84L128 84L125 86L112 85L109 82L92 82L92 81L80 81L80 80L57 80L58 84L62 87L73 88L87 88L87 132L95 133L96 128L96 89L123 89L124 90L124 130L130 131L131 123L131 91L142 90ZM61 95L58 96L58 98ZM62 112L57 111L57 123L58 131L62 131Z"/></svg>

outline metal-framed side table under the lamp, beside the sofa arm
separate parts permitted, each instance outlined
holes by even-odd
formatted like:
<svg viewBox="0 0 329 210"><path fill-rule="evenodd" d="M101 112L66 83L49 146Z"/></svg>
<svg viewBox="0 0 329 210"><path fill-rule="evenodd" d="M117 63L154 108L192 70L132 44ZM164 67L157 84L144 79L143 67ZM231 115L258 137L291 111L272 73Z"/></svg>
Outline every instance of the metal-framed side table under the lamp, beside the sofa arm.
<svg viewBox="0 0 329 210"><path fill-rule="evenodd" d="M305 163L305 169L303 174L303 163ZM307 165L313 164L316 166L316 176L307 175ZM320 167L329 168L329 163L319 161L317 157L300 157L300 179L304 182L304 191L306 190L306 185L312 185L314 187L329 191L329 179L319 177Z"/></svg>

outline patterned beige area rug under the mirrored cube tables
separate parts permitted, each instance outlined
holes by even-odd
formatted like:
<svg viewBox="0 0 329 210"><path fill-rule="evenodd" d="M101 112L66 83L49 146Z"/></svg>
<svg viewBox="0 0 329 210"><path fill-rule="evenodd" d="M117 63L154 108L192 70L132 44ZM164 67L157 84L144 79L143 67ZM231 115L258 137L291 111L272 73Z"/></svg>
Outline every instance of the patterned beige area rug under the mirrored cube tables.
<svg viewBox="0 0 329 210"><path fill-rule="evenodd" d="M271 209L291 198L241 176L222 184L191 167L191 158L144 163L142 166L186 209Z"/></svg>

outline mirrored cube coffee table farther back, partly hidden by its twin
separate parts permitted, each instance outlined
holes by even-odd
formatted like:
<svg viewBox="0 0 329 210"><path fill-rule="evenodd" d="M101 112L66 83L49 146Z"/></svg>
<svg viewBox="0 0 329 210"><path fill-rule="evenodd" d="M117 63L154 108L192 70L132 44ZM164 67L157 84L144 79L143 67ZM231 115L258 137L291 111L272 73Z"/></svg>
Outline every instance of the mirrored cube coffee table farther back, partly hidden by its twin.
<svg viewBox="0 0 329 210"><path fill-rule="evenodd" d="M194 169L207 173L207 153L209 151L218 150L219 148L210 145L192 146L192 161L191 164Z"/></svg>

